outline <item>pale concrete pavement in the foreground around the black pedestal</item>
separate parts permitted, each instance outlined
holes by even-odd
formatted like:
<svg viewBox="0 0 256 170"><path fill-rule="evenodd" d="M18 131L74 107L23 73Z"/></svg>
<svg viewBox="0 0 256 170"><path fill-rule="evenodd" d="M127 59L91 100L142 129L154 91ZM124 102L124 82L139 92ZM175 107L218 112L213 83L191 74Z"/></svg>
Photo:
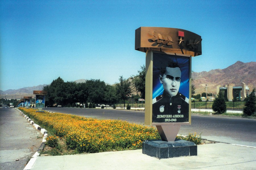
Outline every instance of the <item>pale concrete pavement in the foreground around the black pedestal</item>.
<svg viewBox="0 0 256 170"><path fill-rule="evenodd" d="M157 159L142 150L39 156L32 170L45 169L255 169L256 147L226 143L198 145L197 156Z"/></svg>

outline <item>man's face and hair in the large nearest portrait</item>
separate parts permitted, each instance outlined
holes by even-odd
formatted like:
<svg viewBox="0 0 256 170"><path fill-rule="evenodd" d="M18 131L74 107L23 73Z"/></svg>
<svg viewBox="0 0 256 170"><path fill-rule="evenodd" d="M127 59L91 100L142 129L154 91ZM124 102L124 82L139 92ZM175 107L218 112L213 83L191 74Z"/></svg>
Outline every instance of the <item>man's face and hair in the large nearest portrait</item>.
<svg viewBox="0 0 256 170"><path fill-rule="evenodd" d="M164 91L172 96L177 95L180 86L181 71L179 67L166 67L166 72L163 76L159 75L160 83L163 84Z"/></svg>

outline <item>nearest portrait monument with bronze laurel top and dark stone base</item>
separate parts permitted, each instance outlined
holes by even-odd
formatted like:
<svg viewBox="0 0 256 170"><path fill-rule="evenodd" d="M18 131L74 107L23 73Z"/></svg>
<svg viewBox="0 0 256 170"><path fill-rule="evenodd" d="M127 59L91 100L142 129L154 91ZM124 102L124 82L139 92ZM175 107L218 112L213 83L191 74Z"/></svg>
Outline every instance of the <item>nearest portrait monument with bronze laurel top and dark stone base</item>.
<svg viewBox="0 0 256 170"><path fill-rule="evenodd" d="M146 53L145 124L156 126L162 139L144 141L144 154L197 155L197 145L176 136L181 125L191 124L191 58L202 54L201 41L184 29L136 29L135 50Z"/></svg>

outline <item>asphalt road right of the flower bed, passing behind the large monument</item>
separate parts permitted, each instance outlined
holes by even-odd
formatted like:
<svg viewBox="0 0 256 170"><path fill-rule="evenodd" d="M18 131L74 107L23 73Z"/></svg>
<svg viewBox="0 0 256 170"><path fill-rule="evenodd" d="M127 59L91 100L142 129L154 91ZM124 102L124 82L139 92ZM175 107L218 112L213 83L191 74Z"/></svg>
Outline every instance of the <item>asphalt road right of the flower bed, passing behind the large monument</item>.
<svg viewBox="0 0 256 170"><path fill-rule="evenodd" d="M144 111L117 109L80 109L80 108L45 108L46 111L75 114L98 119L119 119L131 123L144 124ZM256 147L256 119L205 116L192 114L191 125L182 125L179 134L188 135L196 132L203 139Z"/></svg>

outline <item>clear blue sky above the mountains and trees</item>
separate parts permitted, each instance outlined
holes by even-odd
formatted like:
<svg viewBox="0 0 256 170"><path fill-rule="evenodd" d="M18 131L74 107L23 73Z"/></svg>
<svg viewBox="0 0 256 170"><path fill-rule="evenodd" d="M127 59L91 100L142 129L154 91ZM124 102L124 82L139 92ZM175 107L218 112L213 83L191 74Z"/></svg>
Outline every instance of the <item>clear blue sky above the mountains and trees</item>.
<svg viewBox="0 0 256 170"><path fill-rule="evenodd" d="M201 35L195 72L256 61L255 1L0 1L0 90L136 75L135 29Z"/></svg>

